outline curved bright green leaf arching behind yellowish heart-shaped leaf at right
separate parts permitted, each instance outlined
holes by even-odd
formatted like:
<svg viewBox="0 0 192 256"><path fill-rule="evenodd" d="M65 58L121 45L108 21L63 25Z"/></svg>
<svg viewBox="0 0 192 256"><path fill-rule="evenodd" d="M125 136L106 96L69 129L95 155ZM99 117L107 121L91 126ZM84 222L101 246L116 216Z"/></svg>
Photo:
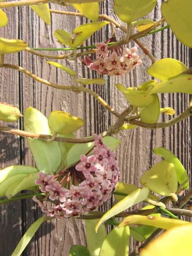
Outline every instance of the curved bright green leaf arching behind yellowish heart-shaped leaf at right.
<svg viewBox="0 0 192 256"><path fill-rule="evenodd" d="M183 185L183 188L187 189L189 187L189 177L180 160L167 148L155 148L153 153L162 156L166 161L174 164L178 182L180 185ZM183 184L185 181L187 182Z"/></svg>

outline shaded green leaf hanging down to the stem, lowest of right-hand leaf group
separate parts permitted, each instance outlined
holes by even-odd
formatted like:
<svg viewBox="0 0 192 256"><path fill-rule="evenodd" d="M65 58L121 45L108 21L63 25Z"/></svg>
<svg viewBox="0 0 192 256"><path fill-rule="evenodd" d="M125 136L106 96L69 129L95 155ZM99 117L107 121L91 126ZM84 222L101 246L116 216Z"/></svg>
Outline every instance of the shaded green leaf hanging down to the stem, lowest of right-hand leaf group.
<svg viewBox="0 0 192 256"><path fill-rule="evenodd" d="M160 99L154 94L153 102L145 108L140 108L140 120L144 123L157 123L160 116Z"/></svg>

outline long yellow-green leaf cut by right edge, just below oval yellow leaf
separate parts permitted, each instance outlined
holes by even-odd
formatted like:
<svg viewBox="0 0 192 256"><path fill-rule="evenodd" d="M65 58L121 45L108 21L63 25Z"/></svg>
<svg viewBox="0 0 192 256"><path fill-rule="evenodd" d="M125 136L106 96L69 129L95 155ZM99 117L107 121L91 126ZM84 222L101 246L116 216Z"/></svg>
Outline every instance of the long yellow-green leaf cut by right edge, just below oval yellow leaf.
<svg viewBox="0 0 192 256"><path fill-rule="evenodd" d="M176 75L169 78L146 93L146 96L154 93L189 93L192 94L192 75Z"/></svg>

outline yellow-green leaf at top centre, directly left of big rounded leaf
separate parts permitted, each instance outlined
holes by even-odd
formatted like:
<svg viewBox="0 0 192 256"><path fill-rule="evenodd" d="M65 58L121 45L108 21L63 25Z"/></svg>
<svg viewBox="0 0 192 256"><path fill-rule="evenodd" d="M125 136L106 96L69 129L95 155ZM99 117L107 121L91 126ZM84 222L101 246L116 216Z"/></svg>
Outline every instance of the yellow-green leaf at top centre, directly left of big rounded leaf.
<svg viewBox="0 0 192 256"><path fill-rule="evenodd" d="M83 3L72 4L80 13L82 13L88 19L96 22L99 19L100 5L99 3Z"/></svg>

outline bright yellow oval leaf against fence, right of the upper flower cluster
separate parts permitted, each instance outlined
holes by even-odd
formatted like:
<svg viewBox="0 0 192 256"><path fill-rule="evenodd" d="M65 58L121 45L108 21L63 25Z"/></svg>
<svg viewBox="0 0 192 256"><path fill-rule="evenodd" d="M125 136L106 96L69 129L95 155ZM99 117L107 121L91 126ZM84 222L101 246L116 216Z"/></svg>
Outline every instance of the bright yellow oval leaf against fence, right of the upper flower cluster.
<svg viewBox="0 0 192 256"><path fill-rule="evenodd" d="M147 73L164 81L186 70L187 67L179 60L165 58L153 63L153 65L147 69Z"/></svg>

